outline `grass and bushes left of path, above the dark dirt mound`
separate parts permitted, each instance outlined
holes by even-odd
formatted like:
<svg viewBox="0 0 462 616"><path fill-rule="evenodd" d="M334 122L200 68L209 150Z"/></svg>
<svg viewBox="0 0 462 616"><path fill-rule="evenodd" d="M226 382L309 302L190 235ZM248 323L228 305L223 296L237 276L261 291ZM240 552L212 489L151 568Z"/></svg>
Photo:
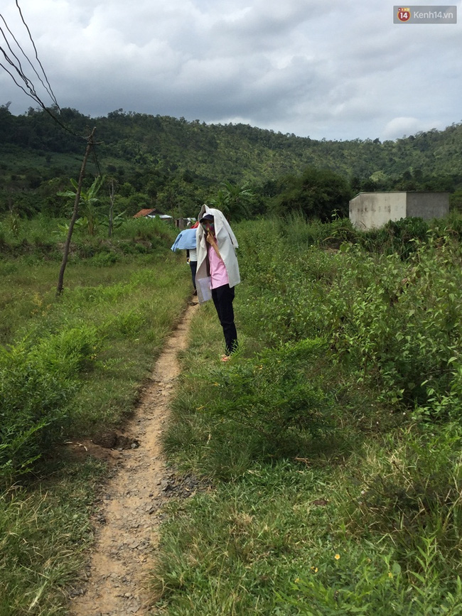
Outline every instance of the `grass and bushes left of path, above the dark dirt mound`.
<svg viewBox="0 0 462 616"><path fill-rule="evenodd" d="M29 470L57 439L120 423L189 293L188 271L173 254L157 264L134 261L117 274L98 268L100 283L82 267L69 269L59 301L50 267L4 279L14 279L6 295L17 310L6 310L11 342L0 355L4 472Z"/></svg>

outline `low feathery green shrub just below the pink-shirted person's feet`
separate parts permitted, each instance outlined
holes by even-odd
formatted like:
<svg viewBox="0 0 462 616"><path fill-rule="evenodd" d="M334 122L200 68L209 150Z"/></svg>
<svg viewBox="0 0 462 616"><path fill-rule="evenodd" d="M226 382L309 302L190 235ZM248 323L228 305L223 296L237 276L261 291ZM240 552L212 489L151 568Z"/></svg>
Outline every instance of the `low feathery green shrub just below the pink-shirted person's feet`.
<svg viewBox="0 0 462 616"><path fill-rule="evenodd" d="M331 426L332 402L316 378L308 377L325 349L322 340L301 340L268 349L208 376L208 403L201 412L219 424L254 433L261 452L285 455L303 437Z"/></svg>

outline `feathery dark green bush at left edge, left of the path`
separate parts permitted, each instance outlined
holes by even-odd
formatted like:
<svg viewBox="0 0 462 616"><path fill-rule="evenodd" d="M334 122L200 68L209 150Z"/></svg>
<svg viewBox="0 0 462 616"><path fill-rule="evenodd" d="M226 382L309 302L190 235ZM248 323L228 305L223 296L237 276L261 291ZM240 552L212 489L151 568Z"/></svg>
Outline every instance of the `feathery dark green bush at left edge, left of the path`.
<svg viewBox="0 0 462 616"><path fill-rule="evenodd" d="M31 470L59 438L78 373L90 366L99 344L95 330L82 326L49 335L36 347L0 347L3 480Z"/></svg>

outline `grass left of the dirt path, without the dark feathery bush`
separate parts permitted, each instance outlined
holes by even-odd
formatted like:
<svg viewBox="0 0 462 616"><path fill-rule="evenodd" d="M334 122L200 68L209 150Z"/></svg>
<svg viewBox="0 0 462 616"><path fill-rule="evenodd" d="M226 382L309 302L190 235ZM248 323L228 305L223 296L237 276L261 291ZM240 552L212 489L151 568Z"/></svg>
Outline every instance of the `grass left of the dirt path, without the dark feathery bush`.
<svg viewBox="0 0 462 616"><path fill-rule="evenodd" d="M131 225L127 242L133 245L134 233ZM0 495L1 615L67 613L68 592L92 543L90 515L107 469L95 460L68 458L63 443L92 436L100 426L120 426L134 408L192 290L184 256L170 251L171 234L167 229L155 249L135 250L115 265L76 256L58 299L59 260L42 254L0 261L3 349L23 348L50 369L59 353L67 353L58 370L70 372L74 392L60 409L65 414L53 446L33 463L33 473L16 477ZM78 355L77 344L83 349L85 340L94 340L94 349ZM76 369L68 369L70 362Z"/></svg>

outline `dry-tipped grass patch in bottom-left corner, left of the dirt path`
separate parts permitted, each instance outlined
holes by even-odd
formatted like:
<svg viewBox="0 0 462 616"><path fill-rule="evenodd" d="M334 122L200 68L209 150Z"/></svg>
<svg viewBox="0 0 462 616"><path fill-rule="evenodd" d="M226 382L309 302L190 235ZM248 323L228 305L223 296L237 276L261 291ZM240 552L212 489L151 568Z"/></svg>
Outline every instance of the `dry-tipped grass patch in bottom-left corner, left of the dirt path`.
<svg viewBox="0 0 462 616"><path fill-rule="evenodd" d="M65 614L92 542L90 514L106 468L54 463L48 479L0 496L0 614Z"/></svg>

